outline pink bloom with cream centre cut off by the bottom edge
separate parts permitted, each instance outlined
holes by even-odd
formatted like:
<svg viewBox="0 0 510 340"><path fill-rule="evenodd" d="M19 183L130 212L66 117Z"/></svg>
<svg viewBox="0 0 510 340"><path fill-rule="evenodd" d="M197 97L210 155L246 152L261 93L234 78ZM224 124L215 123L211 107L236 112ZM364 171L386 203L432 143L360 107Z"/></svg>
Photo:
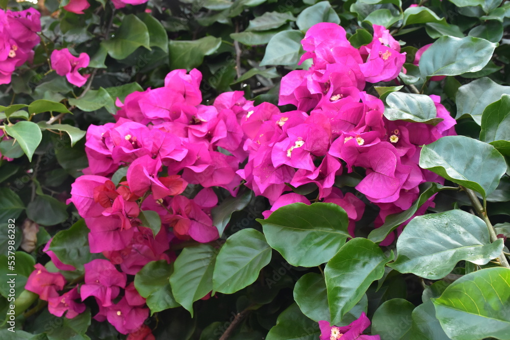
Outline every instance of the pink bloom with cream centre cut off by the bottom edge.
<svg viewBox="0 0 510 340"><path fill-rule="evenodd" d="M370 326L370 320L365 312L362 312L360 318L348 326L330 326L327 321L319 321L320 340L380 340L379 335L362 334L368 326Z"/></svg>

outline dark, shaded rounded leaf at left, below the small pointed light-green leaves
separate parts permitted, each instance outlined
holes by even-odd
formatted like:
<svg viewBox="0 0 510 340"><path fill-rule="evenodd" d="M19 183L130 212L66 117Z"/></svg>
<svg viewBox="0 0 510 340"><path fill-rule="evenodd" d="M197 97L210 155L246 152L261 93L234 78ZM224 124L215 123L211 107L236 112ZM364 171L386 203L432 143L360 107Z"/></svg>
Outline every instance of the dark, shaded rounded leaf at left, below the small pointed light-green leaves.
<svg viewBox="0 0 510 340"><path fill-rule="evenodd" d="M69 215L67 206L48 195L37 195L27 205L27 217L40 225L55 225L64 222Z"/></svg>

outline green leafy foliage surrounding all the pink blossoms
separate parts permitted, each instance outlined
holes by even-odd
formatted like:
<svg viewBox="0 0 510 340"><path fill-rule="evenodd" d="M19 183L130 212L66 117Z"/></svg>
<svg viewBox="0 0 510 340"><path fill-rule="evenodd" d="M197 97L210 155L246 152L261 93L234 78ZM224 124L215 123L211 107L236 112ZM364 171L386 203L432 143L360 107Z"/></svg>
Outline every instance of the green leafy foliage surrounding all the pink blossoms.
<svg viewBox="0 0 510 340"><path fill-rule="evenodd" d="M2 8L20 4L0 1ZM114 121L117 97L123 101L134 91L161 87L169 71L196 67L203 74L204 103L242 90L255 104L277 104L281 77L310 66L298 65L306 31L334 22L355 47L372 41L372 24L402 41L406 72L399 84L368 89L385 101L387 119L437 123L421 94L441 96L457 120L458 136L423 147L419 164L447 184L424 184L411 208L388 216L377 229L378 211L367 208L353 239L336 204L294 203L263 220L261 213L270 208L264 198L224 195L213 211L218 241L182 244L173 263L152 261L134 277L151 310L147 325L156 338L304 340L318 338L320 320L346 325L366 312L372 334L382 339L510 339L503 242L510 237L510 4L154 0L116 10L91 1L81 15L61 9L66 4L39 2L41 43L33 63L0 85L0 128L10 137L0 142L4 277L9 246L18 250L17 331L2 329L2 338L119 336L113 326L91 319L94 304L74 319L58 318L24 290L35 263L56 271L42 251L51 237L62 262L77 268L63 272L69 282L81 282L83 265L96 258L83 220L63 202L87 166L85 130ZM419 66L413 64L418 48L429 43ZM82 89L52 72L51 52L63 47L91 57ZM356 193L359 181L359 175L345 174L336 185ZM317 195L309 188L295 191ZM433 195L429 214L412 219L396 244L378 246ZM6 231L9 219L16 221L14 242ZM212 298L201 300L211 291ZM7 316L6 282L0 294L1 315ZM9 327L8 316L2 327Z"/></svg>

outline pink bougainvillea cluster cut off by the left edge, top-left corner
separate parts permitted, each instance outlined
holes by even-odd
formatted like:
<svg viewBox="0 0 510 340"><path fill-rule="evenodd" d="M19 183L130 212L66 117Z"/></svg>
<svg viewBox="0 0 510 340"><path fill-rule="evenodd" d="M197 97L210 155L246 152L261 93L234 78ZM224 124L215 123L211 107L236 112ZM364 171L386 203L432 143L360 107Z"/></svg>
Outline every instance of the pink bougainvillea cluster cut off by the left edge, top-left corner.
<svg viewBox="0 0 510 340"><path fill-rule="evenodd" d="M40 31L41 14L34 8L19 12L0 9L0 84L9 84L16 67L32 62Z"/></svg>

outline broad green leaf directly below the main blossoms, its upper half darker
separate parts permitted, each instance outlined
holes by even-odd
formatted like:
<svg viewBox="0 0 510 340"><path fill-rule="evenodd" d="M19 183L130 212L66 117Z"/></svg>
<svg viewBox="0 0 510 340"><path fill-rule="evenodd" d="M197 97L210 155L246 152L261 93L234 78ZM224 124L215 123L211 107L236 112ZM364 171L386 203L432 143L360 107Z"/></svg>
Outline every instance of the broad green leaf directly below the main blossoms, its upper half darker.
<svg viewBox="0 0 510 340"><path fill-rule="evenodd" d="M293 203L257 221L271 248L295 267L327 262L350 237L347 213L334 203Z"/></svg>

